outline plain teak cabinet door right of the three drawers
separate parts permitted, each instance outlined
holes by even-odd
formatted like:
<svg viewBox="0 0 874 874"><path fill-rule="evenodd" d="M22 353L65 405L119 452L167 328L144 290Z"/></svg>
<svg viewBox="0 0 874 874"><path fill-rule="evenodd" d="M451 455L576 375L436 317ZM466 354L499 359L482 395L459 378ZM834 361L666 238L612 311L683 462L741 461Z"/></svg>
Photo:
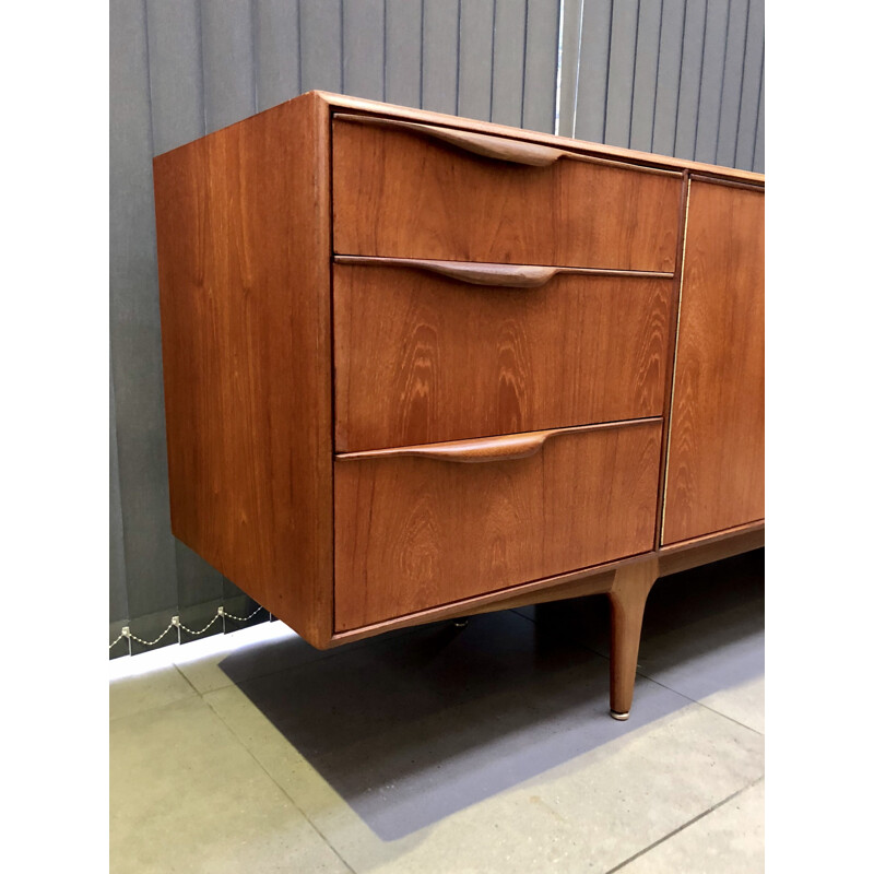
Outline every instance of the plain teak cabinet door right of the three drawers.
<svg viewBox="0 0 874 874"><path fill-rule="evenodd" d="M662 543L765 517L765 194L690 185Z"/></svg>

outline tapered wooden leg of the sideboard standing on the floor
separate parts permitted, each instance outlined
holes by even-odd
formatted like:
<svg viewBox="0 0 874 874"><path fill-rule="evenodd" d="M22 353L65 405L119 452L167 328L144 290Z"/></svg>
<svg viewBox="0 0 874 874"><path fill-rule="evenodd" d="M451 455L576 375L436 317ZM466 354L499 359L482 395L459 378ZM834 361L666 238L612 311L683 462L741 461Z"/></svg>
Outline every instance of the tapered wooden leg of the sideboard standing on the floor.
<svg viewBox="0 0 874 874"><path fill-rule="evenodd" d="M652 583L659 576L659 559L651 558L616 570L607 592L611 605L610 629L610 714L628 719L635 692L637 653L643 607Z"/></svg>

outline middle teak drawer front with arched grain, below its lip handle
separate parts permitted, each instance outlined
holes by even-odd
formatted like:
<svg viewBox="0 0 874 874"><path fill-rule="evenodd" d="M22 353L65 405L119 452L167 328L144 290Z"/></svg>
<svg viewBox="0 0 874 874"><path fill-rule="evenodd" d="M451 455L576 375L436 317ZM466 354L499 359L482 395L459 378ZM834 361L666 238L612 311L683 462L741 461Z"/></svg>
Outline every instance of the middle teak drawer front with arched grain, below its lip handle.
<svg viewBox="0 0 874 874"><path fill-rule="evenodd" d="M333 270L338 451L662 414L670 279Z"/></svg>

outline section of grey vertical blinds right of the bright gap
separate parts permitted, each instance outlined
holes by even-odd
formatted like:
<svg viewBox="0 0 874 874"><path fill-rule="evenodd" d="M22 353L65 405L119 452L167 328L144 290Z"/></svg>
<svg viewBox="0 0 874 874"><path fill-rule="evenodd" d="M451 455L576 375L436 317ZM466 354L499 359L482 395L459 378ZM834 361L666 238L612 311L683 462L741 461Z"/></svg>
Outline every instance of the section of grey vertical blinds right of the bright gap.
<svg viewBox="0 0 874 874"><path fill-rule="evenodd" d="M559 133L764 172L765 0L564 7Z"/></svg>

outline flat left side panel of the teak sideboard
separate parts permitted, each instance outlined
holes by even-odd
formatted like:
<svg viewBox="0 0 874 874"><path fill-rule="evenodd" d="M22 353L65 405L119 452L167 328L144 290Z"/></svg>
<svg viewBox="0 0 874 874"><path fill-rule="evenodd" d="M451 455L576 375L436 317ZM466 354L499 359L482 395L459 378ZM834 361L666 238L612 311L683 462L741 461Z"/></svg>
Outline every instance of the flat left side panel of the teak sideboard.
<svg viewBox="0 0 874 874"><path fill-rule="evenodd" d="M308 95L154 161L174 534L332 630L329 121Z"/></svg>

